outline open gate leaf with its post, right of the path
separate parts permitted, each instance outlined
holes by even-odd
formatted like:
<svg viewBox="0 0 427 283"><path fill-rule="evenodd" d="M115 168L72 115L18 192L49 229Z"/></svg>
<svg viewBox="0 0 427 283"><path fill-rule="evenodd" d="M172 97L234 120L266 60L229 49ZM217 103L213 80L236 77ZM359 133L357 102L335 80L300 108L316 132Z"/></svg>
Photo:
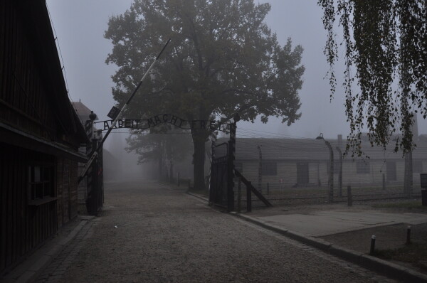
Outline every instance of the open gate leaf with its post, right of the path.
<svg viewBox="0 0 427 283"><path fill-rule="evenodd" d="M238 121L238 120L237 120ZM209 181L209 204L228 211L234 210L234 159L236 154L236 119L230 126L230 140L211 145L211 179ZM217 151L218 157L216 157Z"/></svg>

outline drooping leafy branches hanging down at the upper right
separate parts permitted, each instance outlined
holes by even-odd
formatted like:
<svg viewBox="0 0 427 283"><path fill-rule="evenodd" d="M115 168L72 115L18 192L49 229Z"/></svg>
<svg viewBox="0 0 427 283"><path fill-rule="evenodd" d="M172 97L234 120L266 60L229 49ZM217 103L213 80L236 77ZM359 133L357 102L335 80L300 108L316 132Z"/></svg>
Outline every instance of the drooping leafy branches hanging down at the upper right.
<svg viewBox="0 0 427 283"><path fill-rule="evenodd" d="M362 154L364 127L371 145L385 149L399 134L394 150L411 151L413 115L427 116L427 1L318 0L318 4L324 11L325 55L331 67L338 59L336 18L343 31L345 112L350 124L347 151L352 148L353 154ZM333 68L329 74L333 94Z"/></svg>

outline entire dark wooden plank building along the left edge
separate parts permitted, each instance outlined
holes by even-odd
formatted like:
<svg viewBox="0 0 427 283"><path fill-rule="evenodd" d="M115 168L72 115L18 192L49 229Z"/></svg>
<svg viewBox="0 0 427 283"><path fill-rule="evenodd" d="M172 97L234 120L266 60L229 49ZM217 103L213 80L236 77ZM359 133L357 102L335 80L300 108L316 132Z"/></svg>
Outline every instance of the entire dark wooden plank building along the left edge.
<svg viewBox="0 0 427 283"><path fill-rule="evenodd" d="M88 143L44 0L0 1L0 274L77 215Z"/></svg>

